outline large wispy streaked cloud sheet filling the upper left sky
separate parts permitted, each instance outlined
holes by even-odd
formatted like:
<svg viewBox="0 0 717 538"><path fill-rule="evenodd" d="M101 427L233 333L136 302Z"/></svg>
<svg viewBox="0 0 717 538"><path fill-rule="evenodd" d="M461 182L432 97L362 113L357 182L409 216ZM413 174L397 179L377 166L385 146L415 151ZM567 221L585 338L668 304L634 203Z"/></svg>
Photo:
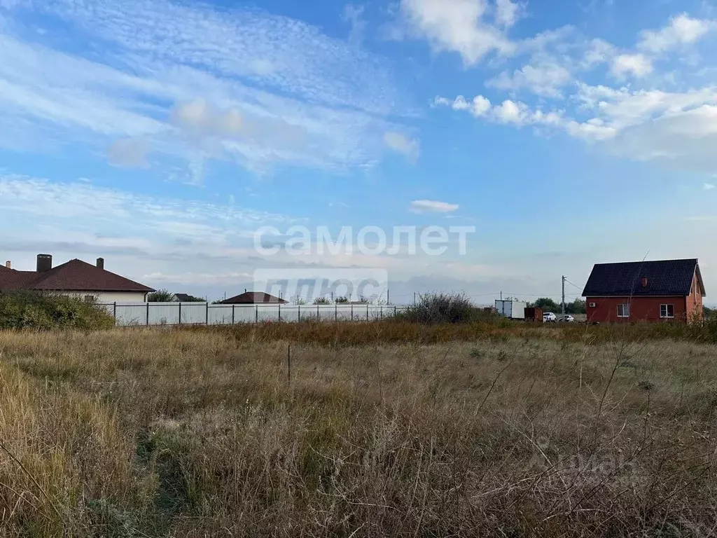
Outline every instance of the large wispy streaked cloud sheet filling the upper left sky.
<svg viewBox="0 0 717 538"><path fill-rule="evenodd" d="M32 6L113 55L105 63L0 36L4 146L105 150L141 139L175 161L346 169L376 163L387 118L402 114L389 104L405 100L384 60L293 19L166 0Z"/></svg>

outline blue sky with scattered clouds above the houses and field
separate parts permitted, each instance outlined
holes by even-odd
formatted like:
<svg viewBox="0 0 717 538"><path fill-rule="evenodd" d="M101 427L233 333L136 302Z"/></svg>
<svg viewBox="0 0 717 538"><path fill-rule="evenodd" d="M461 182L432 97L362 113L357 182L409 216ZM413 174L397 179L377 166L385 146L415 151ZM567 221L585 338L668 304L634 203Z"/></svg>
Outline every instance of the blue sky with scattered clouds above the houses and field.
<svg viewBox="0 0 717 538"><path fill-rule="evenodd" d="M697 257L709 291L716 44L708 0L0 0L0 255L210 298L381 267L396 301L481 302ZM262 225L476 232L465 256L265 259Z"/></svg>

